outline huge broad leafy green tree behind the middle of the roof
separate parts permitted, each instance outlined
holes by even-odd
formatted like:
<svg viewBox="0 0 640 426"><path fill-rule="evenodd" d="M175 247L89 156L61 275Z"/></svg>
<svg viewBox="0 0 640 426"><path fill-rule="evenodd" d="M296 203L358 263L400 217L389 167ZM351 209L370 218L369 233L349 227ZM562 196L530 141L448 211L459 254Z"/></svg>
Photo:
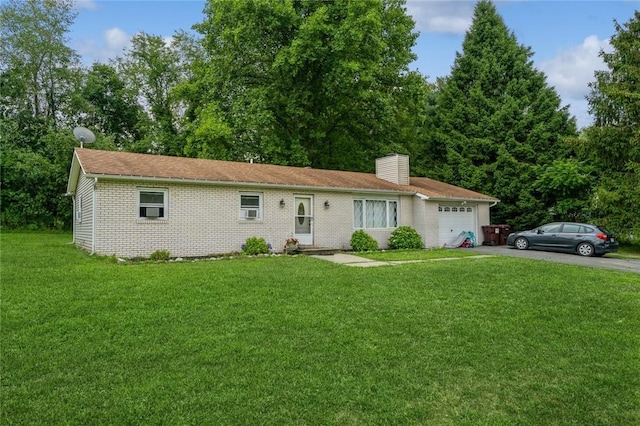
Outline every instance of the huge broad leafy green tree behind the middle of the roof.
<svg viewBox="0 0 640 426"><path fill-rule="evenodd" d="M370 170L426 90L401 0L210 0L189 155Z"/></svg>

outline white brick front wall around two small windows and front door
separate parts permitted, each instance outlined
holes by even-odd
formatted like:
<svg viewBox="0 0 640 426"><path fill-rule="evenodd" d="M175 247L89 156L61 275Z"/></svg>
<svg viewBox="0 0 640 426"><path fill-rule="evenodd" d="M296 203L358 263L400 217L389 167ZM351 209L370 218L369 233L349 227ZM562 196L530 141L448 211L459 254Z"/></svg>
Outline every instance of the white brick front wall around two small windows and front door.
<svg viewBox="0 0 640 426"><path fill-rule="evenodd" d="M167 189L166 220L138 218L139 188ZM315 246L349 249L353 233L353 196L349 193L108 180L100 180L96 191L96 252L104 255L148 257L160 249L180 257L232 253L254 236L264 238L274 251L282 251L294 232L295 195L314 197ZM241 192L262 194L261 219L240 219ZM325 201L329 208L324 207ZM388 238L388 232L383 234L379 237Z"/></svg>

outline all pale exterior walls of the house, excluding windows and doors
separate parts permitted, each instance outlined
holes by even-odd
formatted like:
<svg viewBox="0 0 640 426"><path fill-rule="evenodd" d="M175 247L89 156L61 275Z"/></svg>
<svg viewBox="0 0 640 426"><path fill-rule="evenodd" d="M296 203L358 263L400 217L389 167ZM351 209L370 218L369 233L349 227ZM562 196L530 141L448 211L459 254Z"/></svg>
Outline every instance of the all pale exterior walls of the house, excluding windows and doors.
<svg viewBox="0 0 640 426"><path fill-rule="evenodd" d="M167 191L167 219L138 217L139 189ZM95 194L94 194L95 191ZM262 195L262 218L240 218L240 194ZM302 192L240 186L195 184L156 184L138 181L99 180L80 176L77 198L82 195L82 220L74 212L76 245L93 249L93 212L95 218L95 252L120 257L148 257L156 250L168 250L173 257L199 257L239 252L249 237L262 237L280 252L285 240L294 234L294 197L313 197L313 245L333 249L350 249L353 228L353 199L379 198L398 201L399 225L416 229L426 247L438 246L438 202L424 201L410 195L373 196L349 192ZM94 209L93 200L96 200ZM284 206L280 205L284 200ZM324 206L325 201L329 207ZM488 225L489 205L479 204L478 229ZM388 247L392 229L366 229ZM481 243L482 232L476 233Z"/></svg>

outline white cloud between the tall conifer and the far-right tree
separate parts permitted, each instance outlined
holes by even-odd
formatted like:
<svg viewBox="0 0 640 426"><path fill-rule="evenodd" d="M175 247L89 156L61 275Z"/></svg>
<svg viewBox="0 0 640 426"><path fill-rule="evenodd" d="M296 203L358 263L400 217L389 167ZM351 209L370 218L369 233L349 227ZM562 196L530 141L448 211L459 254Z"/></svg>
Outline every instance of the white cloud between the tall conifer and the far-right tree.
<svg viewBox="0 0 640 426"><path fill-rule="evenodd" d="M555 87L564 104L571 104L571 113L576 116L578 127L592 122L585 96L589 93L589 83L594 81L594 72L607 69L599 56L601 50L611 50L609 40L591 35L581 45L560 51L554 58L537 66L547 76L549 85Z"/></svg>

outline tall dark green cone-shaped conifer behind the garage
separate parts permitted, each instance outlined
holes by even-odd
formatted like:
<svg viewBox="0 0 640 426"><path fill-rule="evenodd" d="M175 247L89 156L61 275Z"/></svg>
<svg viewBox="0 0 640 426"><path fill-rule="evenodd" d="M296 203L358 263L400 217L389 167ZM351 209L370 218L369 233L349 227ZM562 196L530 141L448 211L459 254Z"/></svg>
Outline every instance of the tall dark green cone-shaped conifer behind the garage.
<svg viewBox="0 0 640 426"><path fill-rule="evenodd" d="M427 138L419 165L431 176L499 198L492 220L516 228L551 218L556 199L534 183L569 154L563 138L576 135L575 119L531 56L493 3L478 2L462 53L441 85L437 131Z"/></svg>

